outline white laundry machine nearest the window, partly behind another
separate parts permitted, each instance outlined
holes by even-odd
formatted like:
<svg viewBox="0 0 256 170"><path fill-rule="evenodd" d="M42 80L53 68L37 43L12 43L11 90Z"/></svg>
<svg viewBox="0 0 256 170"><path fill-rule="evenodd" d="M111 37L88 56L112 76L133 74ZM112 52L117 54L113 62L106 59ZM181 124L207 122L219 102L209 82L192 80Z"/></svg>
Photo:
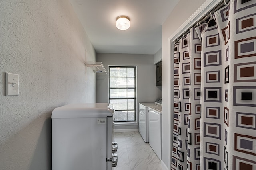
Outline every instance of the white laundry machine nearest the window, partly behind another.
<svg viewBox="0 0 256 170"><path fill-rule="evenodd" d="M162 98L157 98L154 103L139 103L139 133L145 142L148 142L148 107L160 104Z"/></svg>

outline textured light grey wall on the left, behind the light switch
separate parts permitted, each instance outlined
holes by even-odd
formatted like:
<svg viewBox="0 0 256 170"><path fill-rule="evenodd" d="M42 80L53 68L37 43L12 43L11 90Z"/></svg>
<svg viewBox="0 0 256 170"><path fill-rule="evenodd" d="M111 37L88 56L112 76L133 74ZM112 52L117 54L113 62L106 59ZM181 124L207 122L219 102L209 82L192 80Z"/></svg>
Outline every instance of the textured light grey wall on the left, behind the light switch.
<svg viewBox="0 0 256 170"><path fill-rule="evenodd" d="M0 169L51 169L51 113L96 102L96 52L68 0L0 1ZM20 95L5 96L5 72Z"/></svg>

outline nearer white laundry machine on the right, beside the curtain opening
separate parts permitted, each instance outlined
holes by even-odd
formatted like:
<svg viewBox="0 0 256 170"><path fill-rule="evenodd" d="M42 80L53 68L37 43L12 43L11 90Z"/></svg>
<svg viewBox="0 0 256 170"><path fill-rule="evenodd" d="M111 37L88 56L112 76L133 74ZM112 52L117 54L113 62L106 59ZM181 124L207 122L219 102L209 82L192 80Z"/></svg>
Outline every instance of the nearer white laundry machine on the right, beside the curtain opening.
<svg viewBox="0 0 256 170"><path fill-rule="evenodd" d="M148 108L149 145L158 158L162 159L162 106Z"/></svg>

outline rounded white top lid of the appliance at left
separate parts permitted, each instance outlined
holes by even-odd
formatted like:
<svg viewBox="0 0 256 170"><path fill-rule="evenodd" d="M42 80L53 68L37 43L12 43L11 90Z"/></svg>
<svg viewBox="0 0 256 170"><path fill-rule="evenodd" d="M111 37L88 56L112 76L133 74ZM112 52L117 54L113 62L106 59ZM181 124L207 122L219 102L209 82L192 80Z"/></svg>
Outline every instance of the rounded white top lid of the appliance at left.
<svg viewBox="0 0 256 170"><path fill-rule="evenodd" d="M52 111L52 119L112 117L114 106L111 103L81 103L57 107Z"/></svg>

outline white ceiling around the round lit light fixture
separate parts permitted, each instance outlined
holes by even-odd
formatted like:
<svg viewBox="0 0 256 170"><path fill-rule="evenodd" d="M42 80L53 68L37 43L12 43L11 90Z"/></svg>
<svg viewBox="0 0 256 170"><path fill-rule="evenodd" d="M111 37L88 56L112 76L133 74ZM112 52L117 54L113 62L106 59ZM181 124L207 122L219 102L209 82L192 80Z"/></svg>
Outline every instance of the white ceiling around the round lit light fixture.
<svg viewBox="0 0 256 170"><path fill-rule="evenodd" d="M162 24L178 0L70 0L97 53L155 54L162 47ZM116 17L130 28L116 28Z"/></svg>

